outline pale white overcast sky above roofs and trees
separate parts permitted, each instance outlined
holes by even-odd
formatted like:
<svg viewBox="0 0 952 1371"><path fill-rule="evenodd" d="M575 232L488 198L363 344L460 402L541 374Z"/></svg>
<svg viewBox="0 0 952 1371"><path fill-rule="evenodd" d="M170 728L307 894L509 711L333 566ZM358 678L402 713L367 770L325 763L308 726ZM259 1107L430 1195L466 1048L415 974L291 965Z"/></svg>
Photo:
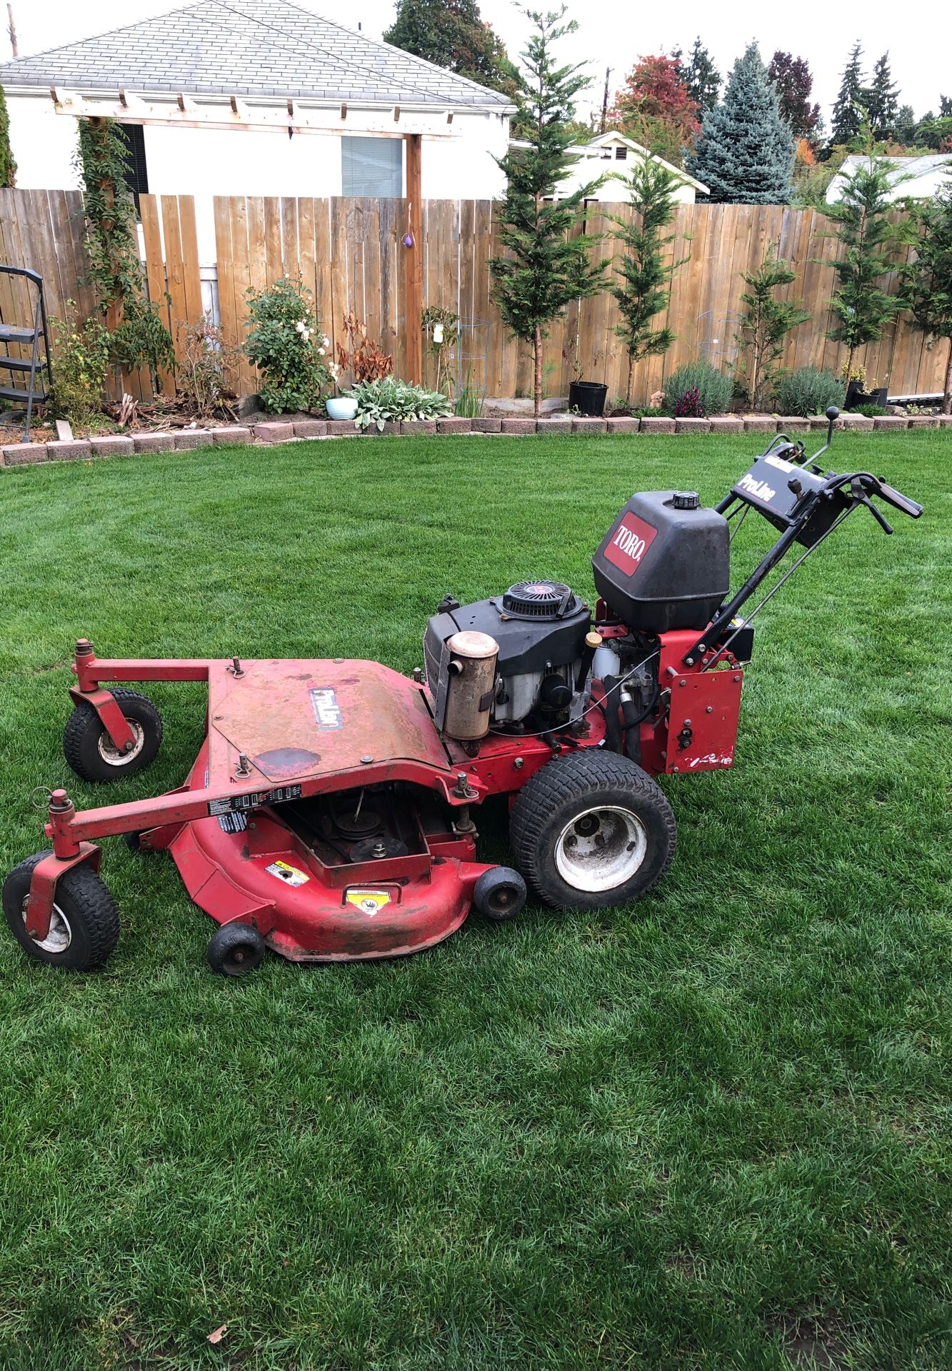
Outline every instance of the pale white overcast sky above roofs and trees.
<svg viewBox="0 0 952 1371"><path fill-rule="evenodd" d="M357 27L359 22L365 33L377 38L394 16L394 0L350 0L343 15L337 5L322 5L317 0L296 3L350 27ZM923 115L927 110L938 112L940 95L952 95L948 64L952 7L945 0L933 0L933 4L934 22L929 40L923 41L922 8L916 11L916 22L899 23L894 3L886 4L885 0L864 0L857 10L830 4L829 0L800 0L796 5L765 5L763 0L757 4L727 0L726 4L712 5L711 0L679 0L671 5L671 18L663 4L572 0L569 15L578 18L579 32L571 44L565 44L565 60L588 66L593 86L584 99L601 107L606 66L615 69L610 77L613 93L641 55L678 47L687 52L695 34L700 34L722 75L726 75L753 38L760 44L764 60L770 60L776 48L807 58L815 78L813 99L820 101L829 125L840 73L860 37L867 74L888 48L900 103L911 104L916 115ZM176 0L123 0L118 7L114 0L12 0L12 5L21 56L184 7ZM514 60L527 32L520 10L510 0L481 0L480 8ZM941 19L942 12L945 19ZM3 34L0 51L5 60L10 44L1 40ZM579 112L586 112L582 106Z"/></svg>

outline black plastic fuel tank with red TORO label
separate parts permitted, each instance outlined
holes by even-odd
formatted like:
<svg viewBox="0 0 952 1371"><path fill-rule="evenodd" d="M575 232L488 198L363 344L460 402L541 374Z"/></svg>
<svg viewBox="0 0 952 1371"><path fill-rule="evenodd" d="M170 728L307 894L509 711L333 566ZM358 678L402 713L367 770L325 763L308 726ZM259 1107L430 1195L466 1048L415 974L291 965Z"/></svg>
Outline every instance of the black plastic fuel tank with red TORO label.
<svg viewBox="0 0 952 1371"><path fill-rule="evenodd" d="M595 590L630 628L700 631L730 587L727 520L693 491L632 495L591 566Z"/></svg>

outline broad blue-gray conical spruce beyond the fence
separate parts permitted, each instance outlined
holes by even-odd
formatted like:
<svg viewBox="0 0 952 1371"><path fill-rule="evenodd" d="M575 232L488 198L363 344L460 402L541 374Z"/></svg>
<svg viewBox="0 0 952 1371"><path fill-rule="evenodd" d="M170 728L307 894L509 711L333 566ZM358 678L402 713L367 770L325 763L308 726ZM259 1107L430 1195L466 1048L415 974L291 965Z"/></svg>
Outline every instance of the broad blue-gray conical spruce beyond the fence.
<svg viewBox="0 0 952 1371"><path fill-rule="evenodd" d="M734 63L722 103L704 115L687 166L715 202L789 203L793 136L756 43Z"/></svg>

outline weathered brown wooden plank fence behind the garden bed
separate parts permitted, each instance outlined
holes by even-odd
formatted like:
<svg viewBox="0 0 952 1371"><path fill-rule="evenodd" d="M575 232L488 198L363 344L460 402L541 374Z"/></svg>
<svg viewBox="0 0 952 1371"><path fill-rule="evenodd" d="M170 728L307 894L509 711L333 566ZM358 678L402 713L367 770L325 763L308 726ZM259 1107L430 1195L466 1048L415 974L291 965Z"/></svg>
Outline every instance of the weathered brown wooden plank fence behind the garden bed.
<svg viewBox="0 0 952 1371"><path fill-rule="evenodd" d="M627 213L626 206L591 206L586 228L608 233L609 214ZM532 384L529 351L506 336L490 296L488 260L499 251L495 214L490 200L424 202L413 223L416 247L407 250L402 243L407 229L403 200L215 196L215 260L200 263L195 199L147 195L141 197L143 255L151 296L169 296L173 333L181 321L200 321L209 304L200 266L217 269L222 329L236 344L246 333L246 291L300 271L332 344L343 339L343 317L357 314L394 354L399 374L405 372L407 328L420 326L405 314L402 255L417 251L424 303L454 310L464 321L464 369L471 370L475 384L490 396L527 395ZM92 310L84 281L84 232L78 192L0 191L0 260L43 273L53 315L62 315L70 299L80 313ZM829 236L823 215L783 206L679 206L674 232L672 251L689 255L675 274L667 311L678 339L664 358L636 367L635 400L661 389L674 367L698 355L722 366L734 361L745 289L741 271L756 269L771 243L797 273L787 296L801 299L812 315L790 335L783 363L834 370L842 363L844 350L826 337L837 241ZM604 254L610 248L606 240ZM16 319L18 310L15 289L0 287L0 319ZM623 392L627 359L613 332L616 322L616 306L606 292L568 308L546 343L549 395L567 393L576 351L586 378L605 380L610 396ZM432 381L432 356L424 356ZM944 358L940 350L925 347L923 336L905 318L888 328L881 343L860 350L857 362L866 366L867 383L888 384L893 393L941 389ZM255 373L247 362L240 363L236 381L241 391L254 389ZM133 388L144 384L140 377Z"/></svg>

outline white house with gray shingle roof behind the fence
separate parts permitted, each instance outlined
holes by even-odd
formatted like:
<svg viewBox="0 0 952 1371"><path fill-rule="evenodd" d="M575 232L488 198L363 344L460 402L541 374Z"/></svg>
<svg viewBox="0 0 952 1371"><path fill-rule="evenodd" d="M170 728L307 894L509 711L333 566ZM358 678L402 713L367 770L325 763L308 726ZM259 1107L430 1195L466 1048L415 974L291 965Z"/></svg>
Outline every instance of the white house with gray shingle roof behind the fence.
<svg viewBox="0 0 952 1371"><path fill-rule="evenodd" d="M118 119L136 193L490 199L514 106L289 0L200 0L0 66L16 184L78 185L75 117ZM51 93L53 99L51 99Z"/></svg>

